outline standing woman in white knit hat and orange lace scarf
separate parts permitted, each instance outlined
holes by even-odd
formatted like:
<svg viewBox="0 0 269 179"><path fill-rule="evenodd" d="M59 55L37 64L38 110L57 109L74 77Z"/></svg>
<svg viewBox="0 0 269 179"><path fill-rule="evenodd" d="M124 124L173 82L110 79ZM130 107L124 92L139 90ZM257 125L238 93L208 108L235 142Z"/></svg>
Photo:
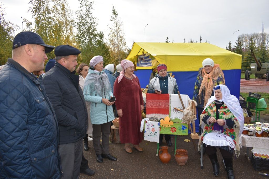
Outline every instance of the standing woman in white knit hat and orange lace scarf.
<svg viewBox="0 0 269 179"><path fill-rule="evenodd" d="M225 85L224 74L219 64L215 64L212 59L207 58L203 60L202 65L203 68L199 70L195 81L192 98L197 102L196 108L199 120L208 99L214 95L213 87ZM201 133L201 131L199 132Z"/></svg>

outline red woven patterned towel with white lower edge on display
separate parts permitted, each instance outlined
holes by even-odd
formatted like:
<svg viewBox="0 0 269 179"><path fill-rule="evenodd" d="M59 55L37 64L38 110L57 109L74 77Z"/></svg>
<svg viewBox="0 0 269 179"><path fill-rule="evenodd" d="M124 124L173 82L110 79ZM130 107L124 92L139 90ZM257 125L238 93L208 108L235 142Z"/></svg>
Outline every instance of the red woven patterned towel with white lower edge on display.
<svg viewBox="0 0 269 179"><path fill-rule="evenodd" d="M169 94L146 93L146 117L165 118L169 115Z"/></svg>

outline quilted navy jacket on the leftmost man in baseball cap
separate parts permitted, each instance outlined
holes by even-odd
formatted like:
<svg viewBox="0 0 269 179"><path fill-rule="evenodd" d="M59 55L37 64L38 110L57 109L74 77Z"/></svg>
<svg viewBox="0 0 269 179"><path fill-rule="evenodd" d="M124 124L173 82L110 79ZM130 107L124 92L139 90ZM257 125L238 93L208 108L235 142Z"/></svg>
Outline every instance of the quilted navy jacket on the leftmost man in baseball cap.
<svg viewBox="0 0 269 179"><path fill-rule="evenodd" d="M8 59L0 71L0 178L60 178L58 140L42 78Z"/></svg>

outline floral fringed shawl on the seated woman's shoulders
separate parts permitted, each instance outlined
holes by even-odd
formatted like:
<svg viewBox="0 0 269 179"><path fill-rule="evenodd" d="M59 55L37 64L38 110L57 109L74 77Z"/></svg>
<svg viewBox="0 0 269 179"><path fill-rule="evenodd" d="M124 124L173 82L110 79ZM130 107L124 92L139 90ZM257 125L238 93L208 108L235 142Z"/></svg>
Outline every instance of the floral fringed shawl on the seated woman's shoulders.
<svg viewBox="0 0 269 179"><path fill-rule="evenodd" d="M200 151L200 145L201 145L201 141L203 141L203 138L206 134L210 133L211 131L214 130L214 123L211 123L210 125L205 124L202 119L204 118L204 116L212 116L215 119L216 118L216 105L215 105L215 101L213 101L211 104L209 104L207 106L207 108L202 112L201 116L200 116L200 126L203 128L203 133L200 136L199 139L199 144L198 144L198 148ZM223 129L222 133L226 134L227 136L231 137L233 142L235 143L235 155L236 157L239 156L240 154L240 146L239 146L239 122L236 119L236 117L232 114L232 112L229 110L228 106L226 106L225 104L223 104L220 109L218 110L219 112L219 119L224 119L224 120L233 120L234 121L234 126L233 128L226 128Z"/></svg>

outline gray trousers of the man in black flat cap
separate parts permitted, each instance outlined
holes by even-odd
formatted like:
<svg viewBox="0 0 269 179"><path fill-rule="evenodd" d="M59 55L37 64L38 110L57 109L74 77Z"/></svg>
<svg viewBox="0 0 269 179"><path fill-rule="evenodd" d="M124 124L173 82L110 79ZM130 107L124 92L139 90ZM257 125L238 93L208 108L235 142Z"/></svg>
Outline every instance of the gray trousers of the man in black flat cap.
<svg viewBox="0 0 269 179"><path fill-rule="evenodd" d="M82 160L82 139L69 144L60 144L59 152L63 169L61 179L78 179Z"/></svg>

